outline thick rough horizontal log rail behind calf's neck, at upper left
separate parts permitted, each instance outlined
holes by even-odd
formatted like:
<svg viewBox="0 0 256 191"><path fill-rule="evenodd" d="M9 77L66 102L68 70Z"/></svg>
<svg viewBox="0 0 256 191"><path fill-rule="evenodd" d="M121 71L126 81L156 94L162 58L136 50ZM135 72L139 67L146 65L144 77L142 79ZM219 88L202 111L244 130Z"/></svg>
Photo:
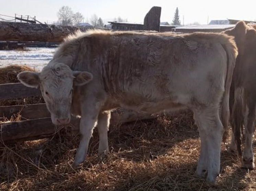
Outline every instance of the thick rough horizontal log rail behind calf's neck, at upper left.
<svg viewBox="0 0 256 191"><path fill-rule="evenodd" d="M62 42L67 35L93 27L0 22L0 40Z"/></svg>

